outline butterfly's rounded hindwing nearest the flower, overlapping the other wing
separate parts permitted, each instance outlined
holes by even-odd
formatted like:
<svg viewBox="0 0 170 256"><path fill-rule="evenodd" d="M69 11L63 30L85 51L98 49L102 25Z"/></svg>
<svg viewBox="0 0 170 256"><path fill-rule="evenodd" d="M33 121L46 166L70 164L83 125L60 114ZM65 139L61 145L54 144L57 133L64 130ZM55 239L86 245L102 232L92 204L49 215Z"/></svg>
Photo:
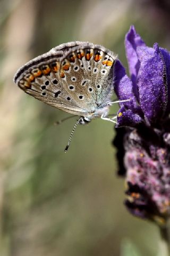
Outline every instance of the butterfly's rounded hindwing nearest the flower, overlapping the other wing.
<svg viewBox="0 0 170 256"><path fill-rule="evenodd" d="M92 43L75 46L63 55L60 76L64 90L88 113L113 94L115 59L113 52Z"/></svg>

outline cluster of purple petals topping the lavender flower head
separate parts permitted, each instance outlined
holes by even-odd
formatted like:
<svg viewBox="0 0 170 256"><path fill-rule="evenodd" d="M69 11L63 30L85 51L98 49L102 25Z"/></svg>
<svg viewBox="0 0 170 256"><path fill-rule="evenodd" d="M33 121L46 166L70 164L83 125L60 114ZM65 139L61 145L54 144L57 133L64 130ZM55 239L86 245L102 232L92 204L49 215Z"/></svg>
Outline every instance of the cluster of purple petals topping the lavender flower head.
<svg viewBox="0 0 170 256"><path fill-rule="evenodd" d="M148 47L131 26L125 37L131 79L118 60L115 63L115 92L121 103L117 127L160 126L170 111L170 54L158 44ZM169 100L170 101L170 100Z"/></svg>

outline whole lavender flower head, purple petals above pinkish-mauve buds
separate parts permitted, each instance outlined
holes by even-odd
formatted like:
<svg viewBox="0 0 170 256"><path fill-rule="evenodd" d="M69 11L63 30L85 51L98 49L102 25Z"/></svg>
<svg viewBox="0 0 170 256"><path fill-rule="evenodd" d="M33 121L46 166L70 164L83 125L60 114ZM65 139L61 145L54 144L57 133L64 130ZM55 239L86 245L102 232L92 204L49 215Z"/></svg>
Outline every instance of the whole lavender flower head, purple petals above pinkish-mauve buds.
<svg viewBox="0 0 170 256"><path fill-rule="evenodd" d="M135 216L164 223L170 216L170 54L157 43L146 46L133 26L125 50L131 78L118 60L115 93L131 101L120 103L116 127L123 128L114 141L120 163L124 155L125 205Z"/></svg>

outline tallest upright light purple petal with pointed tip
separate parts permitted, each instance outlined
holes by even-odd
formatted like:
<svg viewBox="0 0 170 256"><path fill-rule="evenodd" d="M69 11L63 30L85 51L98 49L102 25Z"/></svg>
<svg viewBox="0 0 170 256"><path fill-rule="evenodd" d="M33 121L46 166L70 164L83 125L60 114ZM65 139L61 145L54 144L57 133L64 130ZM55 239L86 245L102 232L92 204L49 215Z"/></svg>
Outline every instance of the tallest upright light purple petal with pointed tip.
<svg viewBox="0 0 170 256"><path fill-rule="evenodd" d="M140 67L140 62L138 60L137 55L137 47L138 46L146 46L145 42L143 42L140 35L135 31L134 26L131 26L128 33L125 36L125 50L126 57L129 63L129 72L131 75L132 83L133 83L133 92L138 98L138 89L137 89L137 75Z"/></svg>

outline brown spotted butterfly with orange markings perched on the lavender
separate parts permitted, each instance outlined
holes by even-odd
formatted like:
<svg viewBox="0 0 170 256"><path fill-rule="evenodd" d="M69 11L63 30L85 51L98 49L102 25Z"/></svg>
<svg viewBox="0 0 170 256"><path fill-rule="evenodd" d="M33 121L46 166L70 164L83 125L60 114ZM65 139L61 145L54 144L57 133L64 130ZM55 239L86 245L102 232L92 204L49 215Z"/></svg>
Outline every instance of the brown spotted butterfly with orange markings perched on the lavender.
<svg viewBox="0 0 170 256"><path fill-rule="evenodd" d="M54 47L22 66L14 82L25 93L67 113L80 116L78 123L108 118L114 93L116 54L89 42L70 42Z"/></svg>

